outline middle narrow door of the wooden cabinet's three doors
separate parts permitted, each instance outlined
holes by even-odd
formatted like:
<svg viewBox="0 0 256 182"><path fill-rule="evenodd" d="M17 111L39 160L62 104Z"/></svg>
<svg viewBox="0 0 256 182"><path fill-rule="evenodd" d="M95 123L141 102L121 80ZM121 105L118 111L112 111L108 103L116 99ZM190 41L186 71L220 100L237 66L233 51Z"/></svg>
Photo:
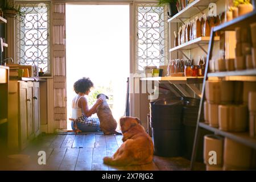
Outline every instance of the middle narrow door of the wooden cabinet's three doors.
<svg viewBox="0 0 256 182"><path fill-rule="evenodd" d="M28 139L34 138L34 126L33 126L33 82L28 81L27 82L27 135Z"/></svg>

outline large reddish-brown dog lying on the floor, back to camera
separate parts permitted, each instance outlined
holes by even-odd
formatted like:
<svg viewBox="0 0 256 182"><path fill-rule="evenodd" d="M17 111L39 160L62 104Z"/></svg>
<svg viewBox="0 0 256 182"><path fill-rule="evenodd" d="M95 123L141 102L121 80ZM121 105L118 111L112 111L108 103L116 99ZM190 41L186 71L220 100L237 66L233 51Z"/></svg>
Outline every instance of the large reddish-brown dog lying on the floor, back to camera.
<svg viewBox="0 0 256 182"><path fill-rule="evenodd" d="M112 158L105 157L104 163L112 166L141 165L152 162L154 146L138 118L120 119L123 143Z"/></svg>

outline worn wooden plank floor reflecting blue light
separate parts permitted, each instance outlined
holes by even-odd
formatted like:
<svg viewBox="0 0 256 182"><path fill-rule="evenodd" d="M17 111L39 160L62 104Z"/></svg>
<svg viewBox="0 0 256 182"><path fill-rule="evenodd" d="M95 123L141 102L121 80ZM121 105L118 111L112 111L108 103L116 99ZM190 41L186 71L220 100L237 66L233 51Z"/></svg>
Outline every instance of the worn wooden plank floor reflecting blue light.
<svg viewBox="0 0 256 182"><path fill-rule="evenodd" d="M113 167L103 163L104 156L112 156L122 144L122 135L103 134L44 134L34 140L20 154L30 155L27 164L3 158L2 170L86 170L86 171L174 171L189 170L189 160L154 156L154 161L142 166ZM38 164L38 152L46 152L46 165ZM7 155L6 155L7 156ZM5 161L6 160L6 161ZM197 163L196 169L204 169Z"/></svg>

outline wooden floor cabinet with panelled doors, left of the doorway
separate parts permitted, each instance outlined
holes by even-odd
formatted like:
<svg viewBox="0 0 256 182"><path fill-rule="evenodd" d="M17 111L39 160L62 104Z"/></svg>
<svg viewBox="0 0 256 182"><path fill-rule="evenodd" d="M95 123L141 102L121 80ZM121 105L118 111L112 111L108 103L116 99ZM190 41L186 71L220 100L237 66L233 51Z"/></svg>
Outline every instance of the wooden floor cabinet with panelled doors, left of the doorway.
<svg viewBox="0 0 256 182"><path fill-rule="evenodd" d="M23 150L40 134L39 82L10 81L9 148Z"/></svg>

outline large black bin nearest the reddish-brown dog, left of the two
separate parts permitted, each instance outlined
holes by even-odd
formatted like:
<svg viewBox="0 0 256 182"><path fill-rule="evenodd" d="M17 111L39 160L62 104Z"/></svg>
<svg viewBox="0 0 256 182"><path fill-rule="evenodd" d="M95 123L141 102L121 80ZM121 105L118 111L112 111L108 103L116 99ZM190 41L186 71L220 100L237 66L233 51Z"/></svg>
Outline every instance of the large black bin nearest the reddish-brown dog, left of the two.
<svg viewBox="0 0 256 182"><path fill-rule="evenodd" d="M182 97L150 102L150 125L155 155L165 157L182 155L182 107Z"/></svg>

